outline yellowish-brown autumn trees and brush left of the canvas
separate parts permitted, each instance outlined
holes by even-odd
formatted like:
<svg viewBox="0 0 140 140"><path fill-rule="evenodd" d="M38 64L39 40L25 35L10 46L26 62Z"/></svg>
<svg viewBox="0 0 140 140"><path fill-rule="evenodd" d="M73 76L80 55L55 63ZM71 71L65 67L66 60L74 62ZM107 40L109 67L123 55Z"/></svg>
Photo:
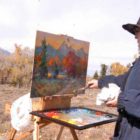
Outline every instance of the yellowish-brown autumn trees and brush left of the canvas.
<svg viewBox="0 0 140 140"><path fill-rule="evenodd" d="M31 85L33 50L15 44L15 52L0 55L0 84L28 87Z"/></svg>

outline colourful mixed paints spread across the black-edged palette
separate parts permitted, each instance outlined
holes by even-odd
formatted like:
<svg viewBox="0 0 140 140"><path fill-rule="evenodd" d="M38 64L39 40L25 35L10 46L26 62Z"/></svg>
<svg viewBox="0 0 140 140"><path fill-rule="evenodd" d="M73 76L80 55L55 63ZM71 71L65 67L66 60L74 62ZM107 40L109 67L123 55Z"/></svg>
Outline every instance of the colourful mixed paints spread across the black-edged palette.
<svg viewBox="0 0 140 140"><path fill-rule="evenodd" d="M40 113L43 117L54 119L60 122L65 122L78 127L86 126L90 124L103 123L110 121L111 119L116 119L116 116L91 110L87 108L70 108L70 109L60 109L52 110Z"/></svg>

